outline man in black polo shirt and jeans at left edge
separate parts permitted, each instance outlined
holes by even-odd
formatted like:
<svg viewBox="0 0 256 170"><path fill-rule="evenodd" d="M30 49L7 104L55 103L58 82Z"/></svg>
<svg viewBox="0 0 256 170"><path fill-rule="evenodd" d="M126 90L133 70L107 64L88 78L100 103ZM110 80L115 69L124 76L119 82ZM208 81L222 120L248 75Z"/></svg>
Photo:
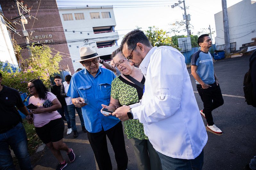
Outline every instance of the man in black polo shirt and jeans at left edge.
<svg viewBox="0 0 256 170"><path fill-rule="evenodd" d="M23 104L19 92L1 85L1 83L2 74L0 73L0 169L15 169L9 149L10 146L19 160L20 168L32 170L26 131L16 107L24 115L29 115L29 111Z"/></svg>

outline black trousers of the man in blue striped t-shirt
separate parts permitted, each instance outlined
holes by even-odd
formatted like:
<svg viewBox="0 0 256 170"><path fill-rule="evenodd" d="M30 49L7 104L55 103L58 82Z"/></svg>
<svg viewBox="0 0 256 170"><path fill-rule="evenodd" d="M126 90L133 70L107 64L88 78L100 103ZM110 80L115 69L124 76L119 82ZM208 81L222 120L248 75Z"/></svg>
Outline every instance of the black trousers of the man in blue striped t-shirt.
<svg viewBox="0 0 256 170"><path fill-rule="evenodd" d="M211 87L203 89L202 85L196 85L197 91L203 102L203 113L209 126L214 125L212 110L223 105L224 100L219 85L213 83Z"/></svg>

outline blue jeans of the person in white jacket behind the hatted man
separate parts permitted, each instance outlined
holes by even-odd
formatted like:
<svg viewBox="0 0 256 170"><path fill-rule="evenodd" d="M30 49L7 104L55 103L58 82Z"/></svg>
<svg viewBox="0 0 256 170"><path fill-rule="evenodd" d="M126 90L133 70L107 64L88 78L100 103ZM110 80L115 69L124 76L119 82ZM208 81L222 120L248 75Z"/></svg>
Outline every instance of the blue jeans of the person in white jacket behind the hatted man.
<svg viewBox="0 0 256 170"><path fill-rule="evenodd" d="M77 126L76 126L76 111L75 109L77 110L77 113L78 113L78 116L79 116L79 119L80 119L80 122L81 122L81 126L82 127L85 127L85 122L84 122L84 118L83 118L83 115L82 115L82 108L79 108L79 107L75 107L75 105L67 105L68 107L68 112L69 112L69 115L70 115L70 123L71 123L71 128L72 130L77 130Z"/></svg>

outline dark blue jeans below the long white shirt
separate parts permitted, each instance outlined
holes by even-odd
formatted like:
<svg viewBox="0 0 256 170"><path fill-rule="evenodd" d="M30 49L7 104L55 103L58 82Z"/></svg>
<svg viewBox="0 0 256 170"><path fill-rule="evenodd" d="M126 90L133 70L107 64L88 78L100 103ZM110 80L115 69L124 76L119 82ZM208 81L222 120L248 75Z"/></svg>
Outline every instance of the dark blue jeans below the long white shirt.
<svg viewBox="0 0 256 170"><path fill-rule="evenodd" d="M157 153L160 157L163 170L202 170L203 150L195 159L171 158L169 156L163 155L160 152Z"/></svg>

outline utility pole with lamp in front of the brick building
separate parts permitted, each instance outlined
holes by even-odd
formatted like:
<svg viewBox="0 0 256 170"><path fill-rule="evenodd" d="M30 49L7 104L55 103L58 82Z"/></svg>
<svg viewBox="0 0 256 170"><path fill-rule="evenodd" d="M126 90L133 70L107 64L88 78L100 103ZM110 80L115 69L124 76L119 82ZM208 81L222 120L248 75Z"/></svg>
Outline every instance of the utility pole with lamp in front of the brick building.
<svg viewBox="0 0 256 170"><path fill-rule="evenodd" d="M31 56L31 50L30 50L30 45L29 45L29 33L28 33L28 31L26 31L25 26L24 26L24 22L23 22L24 20L26 20L26 18L22 15L23 11L25 11L26 14L29 14L30 9L27 9L27 6L23 5L23 1L19 2L19 1L16 0L15 3L16 3L17 12L18 12L19 18L20 18L22 33L23 33L24 37L26 38L26 45L27 45L27 48L29 50L29 56ZM21 13L20 8L22 9L22 13ZM29 18L31 19L31 15L29 15Z"/></svg>

